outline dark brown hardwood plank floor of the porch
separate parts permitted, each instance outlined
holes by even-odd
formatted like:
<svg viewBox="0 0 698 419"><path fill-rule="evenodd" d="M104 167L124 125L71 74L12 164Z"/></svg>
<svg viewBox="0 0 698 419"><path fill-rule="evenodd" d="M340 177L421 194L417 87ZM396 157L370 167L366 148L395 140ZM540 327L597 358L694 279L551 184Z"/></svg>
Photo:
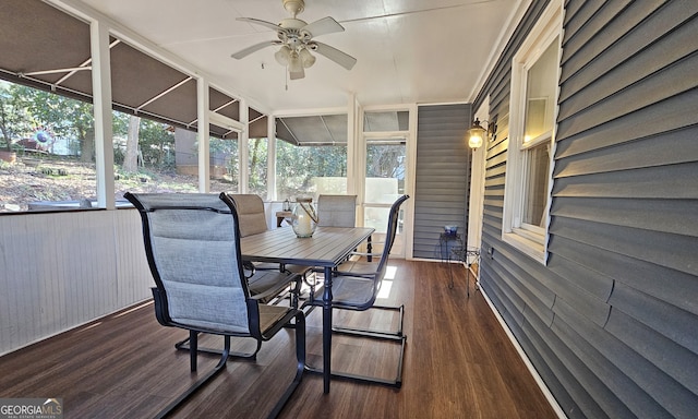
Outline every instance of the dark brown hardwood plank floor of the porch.
<svg viewBox="0 0 698 419"><path fill-rule="evenodd" d="M480 292L466 297L466 271L447 264L390 261L395 279L382 303L405 303L408 336L401 390L306 374L281 418L555 418ZM322 313L308 319L309 362L322 364ZM387 327L377 311L337 313L335 323ZM163 327L152 303L106 316L0 357L0 397L62 397L65 418L148 418L215 366L173 348L185 331ZM177 418L265 417L294 373L293 332L263 345L256 361L227 369L179 409ZM210 340L214 340L213 338ZM218 346L214 342L203 345ZM250 342L236 343L239 348ZM251 347L251 346L250 346ZM393 378L398 345L335 336L333 368Z"/></svg>

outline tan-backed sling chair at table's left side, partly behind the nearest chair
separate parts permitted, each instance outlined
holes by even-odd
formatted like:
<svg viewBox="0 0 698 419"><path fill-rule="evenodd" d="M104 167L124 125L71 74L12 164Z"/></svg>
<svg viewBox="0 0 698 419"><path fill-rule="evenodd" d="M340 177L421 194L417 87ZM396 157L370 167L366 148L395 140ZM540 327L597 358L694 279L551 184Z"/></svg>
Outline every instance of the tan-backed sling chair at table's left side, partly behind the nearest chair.
<svg viewBox="0 0 698 419"><path fill-rule="evenodd" d="M266 214L264 212L264 201L260 197L260 195L253 193L230 193L228 196L232 200L236 205L236 210L238 211L240 217L240 237L246 237L251 235L257 235L260 232L264 232L267 230L266 224ZM280 271L290 274L299 275L296 286L290 289L291 291L291 304L293 307L298 307L298 295L300 292L301 279L304 279L305 274L310 271L310 266L301 266L301 265L281 265L274 263L263 263L255 262L245 263L245 267L251 270L253 273L257 275L263 272L274 272ZM255 275L256 276L256 275ZM252 280L250 283L250 287L253 289L257 286L262 288L268 288L270 278L260 277L258 284L257 280ZM284 288L279 289L280 292ZM277 295L279 294L277 292ZM275 296L269 296L268 299L265 299L265 302L268 302Z"/></svg>

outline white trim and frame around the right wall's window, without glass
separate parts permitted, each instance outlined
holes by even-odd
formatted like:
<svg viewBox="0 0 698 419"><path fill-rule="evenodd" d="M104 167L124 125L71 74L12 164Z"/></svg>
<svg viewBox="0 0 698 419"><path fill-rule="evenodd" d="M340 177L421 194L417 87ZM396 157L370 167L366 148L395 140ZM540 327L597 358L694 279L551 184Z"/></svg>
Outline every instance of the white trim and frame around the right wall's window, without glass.
<svg viewBox="0 0 698 419"><path fill-rule="evenodd" d="M550 205L551 192L553 188L553 169L555 155L555 132L556 124L553 124L551 133L550 171L547 183L547 200L545 204L545 226L544 228L521 225L520 214L522 214L524 194L524 158L522 148L537 145L540 141L522 146L525 111L526 106L526 73L538 58L545 51L550 43L558 37L558 50L562 50L563 38L563 4L562 0L553 0L547 5L537 25L521 44L518 52L512 60L512 94L510 94L510 116L509 116L509 144L506 167L506 179L504 188L504 213L502 223L502 240L515 247L522 253L539 261L547 263L547 242L550 235ZM559 52L558 52L559 53ZM557 68L557 79L559 79L559 68ZM559 88L558 88L559 91ZM559 92L555 94L555 103ZM557 106L555 105L554 118L557 118ZM546 135L547 136L547 135Z"/></svg>

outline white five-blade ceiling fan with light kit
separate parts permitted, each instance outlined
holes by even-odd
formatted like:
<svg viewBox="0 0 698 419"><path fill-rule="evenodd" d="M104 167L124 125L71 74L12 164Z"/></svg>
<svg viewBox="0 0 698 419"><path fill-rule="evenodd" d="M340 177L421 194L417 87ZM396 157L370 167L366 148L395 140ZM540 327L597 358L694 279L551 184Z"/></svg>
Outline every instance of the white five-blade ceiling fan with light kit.
<svg viewBox="0 0 698 419"><path fill-rule="evenodd" d="M279 64L288 67L291 80L303 79L305 76L304 69L315 63L315 56L311 51L325 56L347 70L353 68L357 63L356 58L314 39L316 36L344 32L345 28L337 21L327 16L308 24L296 17L305 9L304 0L282 1L284 8L291 14L291 17L286 17L278 24L254 17L238 17L238 21L250 22L274 29L279 40L255 44L231 55L232 58L239 60L262 48L280 46L281 48L274 53L274 58Z"/></svg>

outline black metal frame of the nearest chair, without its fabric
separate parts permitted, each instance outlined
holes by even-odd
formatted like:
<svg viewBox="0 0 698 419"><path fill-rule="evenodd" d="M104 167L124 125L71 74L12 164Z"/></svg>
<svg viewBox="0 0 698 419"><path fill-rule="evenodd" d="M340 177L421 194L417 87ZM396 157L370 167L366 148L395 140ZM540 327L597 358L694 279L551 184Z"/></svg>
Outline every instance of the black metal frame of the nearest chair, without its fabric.
<svg viewBox="0 0 698 419"><path fill-rule="evenodd" d="M210 382L218 373L220 373L227 364L227 360L232 356L230 352L230 338L231 336L239 337L251 337L256 339L257 342L257 350L260 349L262 342L268 340L278 331L285 327L286 324L290 323L291 320L294 320L294 331L296 331L296 357L298 360L296 375L290 383L290 385L284 392L281 398L276 403L273 410L269 412L267 418L276 418L279 412L284 409L284 406L291 397L292 393L296 391L298 385L300 384L303 372L305 371L305 315L302 310L296 308L288 308L286 313L282 316L279 316L275 320L275 322L266 327L264 331L261 328L261 308L260 302L250 296L250 291L246 285L246 280L244 280L244 276L242 274L242 258L240 252L240 230L238 227L238 215L234 211L234 206L229 197L227 197L224 193L219 195L219 199L225 202L228 206L228 211L220 211L214 207L197 207L197 206L164 206L161 208L151 207L145 208L143 204L139 201L137 196L127 192L124 197L129 200L141 214L141 219L143 222L143 238L145 243L145 251L148 261L148 266L151 268L151 273L153 274L153 278L155 280L156 287L152 288L153 299L155 302L155 315L157 321L168 327L180 327L189 331L189 338L185 339L189 342L189 352L190 352L190 370L192 372L196 371L196 358L197 354L202 351L198 348L198 334L214 334L224 336L224 348L220 351L216 351L220 354L220 360L209 372L204 374L200 380L197 380L194 384L192 384L189 388L186 388L182 394L180 394L174 400L172 400L169 405L167 405L163 410L157 414L157 418L165 418L169 416L174 409L177 409L180 405L182 405L185 400L188 400L193 394L196 393L201 387ZM160 278L159 270L155 262L155 256L153 254L153 242L151 240L151 226L147 213L157 211L157 210L191 210L191 211L212 211L219 214L229 214L231 215L231 220L234 223L234 241L236 241L236 251L237 251L237 260L239 261L239 270L241 277L241 287L245 295L245 304L248 312L248 324L249 324L249 333L224 333L217 330L208 330L202 327L192 327L188 324L182 324L173 321L170 318L168 310L168 299L167 291L165 285ZM252 355L252 358L256 355L256 351ZM246 356L245 358L250 358Z"/></svg>

